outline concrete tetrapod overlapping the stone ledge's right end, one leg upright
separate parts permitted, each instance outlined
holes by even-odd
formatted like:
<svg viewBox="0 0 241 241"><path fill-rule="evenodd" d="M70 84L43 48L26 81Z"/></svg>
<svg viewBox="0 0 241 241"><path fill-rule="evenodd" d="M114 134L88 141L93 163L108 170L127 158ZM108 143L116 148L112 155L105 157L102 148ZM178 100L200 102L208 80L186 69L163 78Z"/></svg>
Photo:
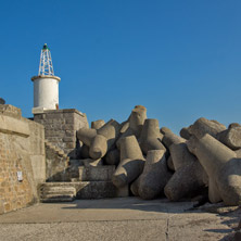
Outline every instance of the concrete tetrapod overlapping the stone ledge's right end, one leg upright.
<svg viewBox="0 0 241 241"><path fill-rule="evenodd" d="M120 162L112 177L113 183L122 188L134 181L143 170L144 157L135 136L120 140Z"/></svg>

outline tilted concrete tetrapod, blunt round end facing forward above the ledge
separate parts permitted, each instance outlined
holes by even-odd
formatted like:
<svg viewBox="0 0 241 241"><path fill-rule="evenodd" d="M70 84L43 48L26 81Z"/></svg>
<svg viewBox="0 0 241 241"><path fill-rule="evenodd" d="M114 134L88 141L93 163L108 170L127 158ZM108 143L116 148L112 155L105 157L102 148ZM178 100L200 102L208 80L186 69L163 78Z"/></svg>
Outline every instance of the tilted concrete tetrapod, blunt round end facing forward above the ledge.
<svg viewBox="0 0 241 241"><path fill-rule="evenodd" d="M107 150L115 143L120 127L122 126L117 122L111 119L98 129L97 136L91 141L89 155L94 160L103 157Z"/></svg>

